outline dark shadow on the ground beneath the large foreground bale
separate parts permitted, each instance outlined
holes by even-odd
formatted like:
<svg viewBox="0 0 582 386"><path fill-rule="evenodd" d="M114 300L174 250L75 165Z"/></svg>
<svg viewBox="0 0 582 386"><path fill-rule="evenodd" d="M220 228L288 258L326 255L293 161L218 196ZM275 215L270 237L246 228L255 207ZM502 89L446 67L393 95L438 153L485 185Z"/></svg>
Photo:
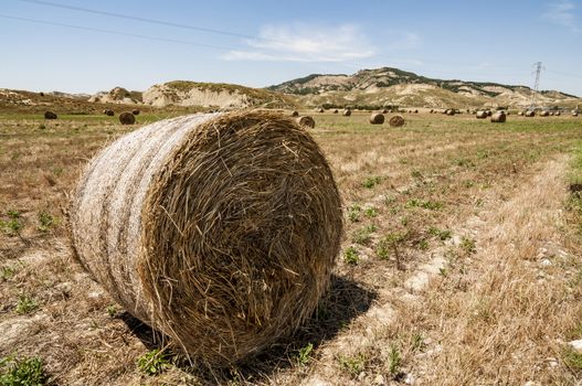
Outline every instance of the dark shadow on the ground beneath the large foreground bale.
<svg viewBox="0 0 582 386"><path fill-rule="evenodd" d="M261 382L261 379L268 378L275 371L295 366L299 349L311 344L316 350L326 341L334 339L351 320L364 313L377 297L374 291L363 288L358 282L332 275L328 292L319 301L311 318L295 334L278 340L260 355L239 366L218 371L204 368L204 366L192 367L183 355L174 353L171 356L181 371L195 375L208 384L225 384L232 380ZM117 318L148 350L162 349L163 343L168 342L162 333L151 329L128 312L123 312Z"/></svg>

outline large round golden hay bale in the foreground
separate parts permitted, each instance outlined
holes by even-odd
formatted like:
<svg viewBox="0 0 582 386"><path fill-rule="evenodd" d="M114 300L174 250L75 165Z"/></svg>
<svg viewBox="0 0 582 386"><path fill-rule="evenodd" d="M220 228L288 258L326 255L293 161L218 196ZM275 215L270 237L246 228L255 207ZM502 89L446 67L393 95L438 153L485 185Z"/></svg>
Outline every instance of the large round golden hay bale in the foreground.
<svg viewBox="0 0 582 386"><path fill-rule="evenodd" d="M288 335L329 283L340 195L289 117L159 121L88 164L70 210L78 260L190 358L227 366Z"/></svg>

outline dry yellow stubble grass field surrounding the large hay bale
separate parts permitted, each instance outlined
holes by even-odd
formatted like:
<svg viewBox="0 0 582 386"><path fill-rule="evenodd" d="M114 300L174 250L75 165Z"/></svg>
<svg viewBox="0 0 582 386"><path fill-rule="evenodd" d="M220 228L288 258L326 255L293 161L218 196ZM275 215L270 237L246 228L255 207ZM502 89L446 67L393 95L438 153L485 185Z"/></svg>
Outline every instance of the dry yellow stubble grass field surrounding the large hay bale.
<svg viewBox="0 0 582 386"><path fill-rule="evenodd" d="M1 117L0 219L18 211L22 227L0 234L0 356L40 356L60 384L575 384L563 342L582 337L582 211L568 210L564 174L579 118L419 114L399 130L366 112L316 118L346 206L329 294L293 339L232 372L174 357L149 377L136 360L159 343L72 262L57 210L87 158L134 128ZM27 299L36 307L17 312Z"/></svg>

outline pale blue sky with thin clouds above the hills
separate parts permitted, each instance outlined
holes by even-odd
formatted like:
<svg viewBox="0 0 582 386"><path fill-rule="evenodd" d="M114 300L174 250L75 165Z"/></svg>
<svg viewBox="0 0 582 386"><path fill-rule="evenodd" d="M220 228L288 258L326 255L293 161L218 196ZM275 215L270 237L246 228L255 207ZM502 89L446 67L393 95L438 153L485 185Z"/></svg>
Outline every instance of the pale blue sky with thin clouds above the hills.
<svg viewBox="0 0 582 386"><path fill-rule="evenodd" d="M30 90L264 87L381 66L532 86L540 61L541 89L582 96L582 0L2 0L0 52L0 87Z"/></svg>

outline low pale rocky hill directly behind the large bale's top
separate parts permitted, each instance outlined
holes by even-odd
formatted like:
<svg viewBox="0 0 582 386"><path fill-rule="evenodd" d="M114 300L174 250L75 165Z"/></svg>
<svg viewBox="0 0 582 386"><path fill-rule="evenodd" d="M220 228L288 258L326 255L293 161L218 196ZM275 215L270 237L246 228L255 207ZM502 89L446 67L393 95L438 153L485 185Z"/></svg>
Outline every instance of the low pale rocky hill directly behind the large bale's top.
<svg viewBox="0 0 582 386"><path fill-rule="evenodd" d="M282 93L223 83L174 81L148 88L142 94L146 105L202 106L216 108L293 107L295 103Z"/></svg>

